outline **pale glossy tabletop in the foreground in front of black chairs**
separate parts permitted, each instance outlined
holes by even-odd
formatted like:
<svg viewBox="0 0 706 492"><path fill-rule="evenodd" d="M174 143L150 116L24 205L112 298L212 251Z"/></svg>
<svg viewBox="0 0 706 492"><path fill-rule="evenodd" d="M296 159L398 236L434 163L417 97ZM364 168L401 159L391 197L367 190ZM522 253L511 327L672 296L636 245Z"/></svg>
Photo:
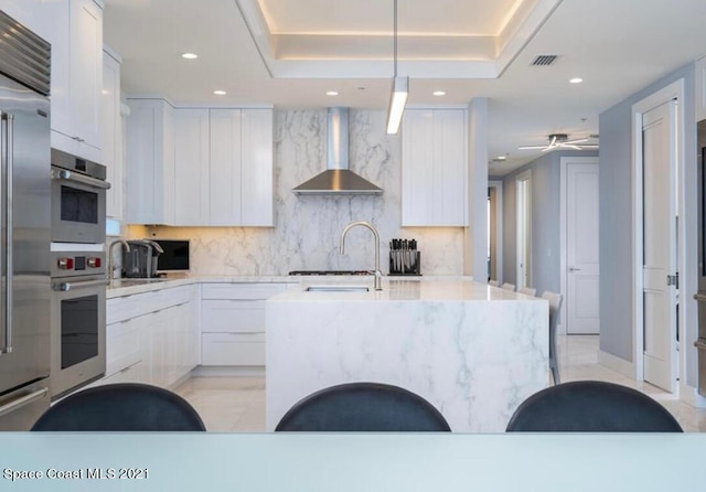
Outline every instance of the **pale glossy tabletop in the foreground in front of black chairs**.
<svg viewBox="0 0 706 492"><path fill-rule="evenodd" d="M706 434L696 432L2 432L0 445L3 470L43 474L0 474L7 491L700 492L706 483ZM148 477L87 478L128 467Z"/></svg>

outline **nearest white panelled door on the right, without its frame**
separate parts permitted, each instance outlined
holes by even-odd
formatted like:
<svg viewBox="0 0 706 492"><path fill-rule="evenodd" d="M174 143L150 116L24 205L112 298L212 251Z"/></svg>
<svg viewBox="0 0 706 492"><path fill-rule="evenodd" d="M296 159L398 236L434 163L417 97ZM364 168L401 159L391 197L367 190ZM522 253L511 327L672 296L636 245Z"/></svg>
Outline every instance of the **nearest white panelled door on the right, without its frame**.
<svg viewBox="0 0 706 492"><path fill-rule="evenodd" d="M676 389L676 101L642 117L644 381Z"/></svg>

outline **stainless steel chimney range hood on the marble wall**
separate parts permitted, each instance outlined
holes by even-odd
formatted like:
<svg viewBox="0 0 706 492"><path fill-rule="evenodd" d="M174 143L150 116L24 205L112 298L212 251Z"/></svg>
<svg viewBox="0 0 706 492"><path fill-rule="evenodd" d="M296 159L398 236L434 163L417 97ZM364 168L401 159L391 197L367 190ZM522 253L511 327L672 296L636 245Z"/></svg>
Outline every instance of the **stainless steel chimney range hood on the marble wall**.
<svg viewBox="0 0 706 492"><path fill-rule="evenodd" d="M292 190L298 194L379 194L383 190L349 169L349 109L329 108L327 170Z"/></svg>

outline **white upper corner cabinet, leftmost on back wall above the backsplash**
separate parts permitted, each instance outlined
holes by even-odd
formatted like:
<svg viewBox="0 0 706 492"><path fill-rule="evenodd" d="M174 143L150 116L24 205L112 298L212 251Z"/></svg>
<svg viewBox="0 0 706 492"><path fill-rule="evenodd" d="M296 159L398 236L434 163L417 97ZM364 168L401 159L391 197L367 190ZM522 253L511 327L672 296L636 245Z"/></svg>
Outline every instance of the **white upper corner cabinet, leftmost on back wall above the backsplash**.
<svg viewBox="0 0 706 492"><path fill-rule="evenodd" d="M174 224L174 108L128 99L126 222Z"/></svg>

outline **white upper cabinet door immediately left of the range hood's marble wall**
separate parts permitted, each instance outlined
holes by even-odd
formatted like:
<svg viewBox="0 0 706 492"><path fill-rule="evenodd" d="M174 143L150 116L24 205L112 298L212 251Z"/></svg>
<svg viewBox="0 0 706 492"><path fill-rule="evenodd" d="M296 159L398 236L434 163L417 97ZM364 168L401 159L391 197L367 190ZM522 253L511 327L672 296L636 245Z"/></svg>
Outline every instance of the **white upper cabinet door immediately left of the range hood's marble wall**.
<svg viewBox="0 0 706 492"><path fill-rule="evenodd" d="M242 224L272 226L272 110L243 109Z"/></svg>

